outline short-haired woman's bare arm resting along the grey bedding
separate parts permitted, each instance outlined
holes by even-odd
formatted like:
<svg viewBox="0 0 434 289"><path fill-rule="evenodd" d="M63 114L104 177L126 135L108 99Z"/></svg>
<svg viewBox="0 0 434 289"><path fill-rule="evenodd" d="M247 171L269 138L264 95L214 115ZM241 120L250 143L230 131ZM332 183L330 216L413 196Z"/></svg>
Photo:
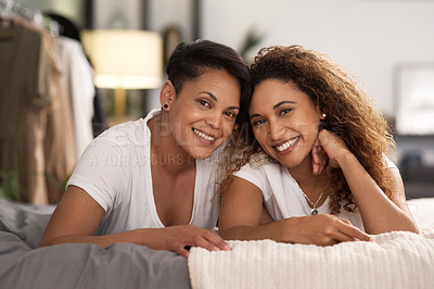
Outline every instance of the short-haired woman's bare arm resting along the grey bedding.
<svg viewBox="0 0 434 289"><path fill-rule="evenodd" d="M186 246L210 251L228 250L229 246L215 233L192 225L166 228L142 228L104 236L94 236L104 210L81 188L68 186L55 209L39 247L58 243L95 243L102 248L116 242L148 246L188 256Z"/></svg>

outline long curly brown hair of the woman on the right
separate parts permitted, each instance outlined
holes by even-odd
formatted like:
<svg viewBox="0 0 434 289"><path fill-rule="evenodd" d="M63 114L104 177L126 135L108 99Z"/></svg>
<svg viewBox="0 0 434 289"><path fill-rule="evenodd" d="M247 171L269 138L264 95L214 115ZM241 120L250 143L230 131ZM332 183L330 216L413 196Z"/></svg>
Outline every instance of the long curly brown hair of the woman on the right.
<svg viewBox="0 0 434 289"><path fill-rule="evenodd" d="M379 187L391 198L392 180L385 174L384 159L393 152L395 142L387 120L373 109L368 95L357 87L341 66L326 55L301 46L273 46L259 50L251 65L251 74L253 87L267 79L277 79L291 83L306 93L326 113L322 125L344 140ZM263 151L253 135L248 111L241 114L243 125L235 129L232 139L237 141L226 148L232 158L226 166L220 196L231 183L231 175ZM348 212L356 210L356 202L341 169L332 172L330 189L331 214L340 213L341 204Z"/></svg>

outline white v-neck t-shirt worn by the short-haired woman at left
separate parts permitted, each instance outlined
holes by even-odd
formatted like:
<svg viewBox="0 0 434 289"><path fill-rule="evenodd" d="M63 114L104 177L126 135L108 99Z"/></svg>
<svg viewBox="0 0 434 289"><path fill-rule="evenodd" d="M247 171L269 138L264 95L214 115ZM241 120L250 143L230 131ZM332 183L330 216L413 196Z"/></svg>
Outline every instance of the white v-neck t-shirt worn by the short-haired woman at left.
<svg viewBox="0 0 434 289"><path fill-rule="evenodd" d="M163 228L156 212L151 176L151 130L146 123L159 114L114 126L85 150L67 186L86 190L105 211L97 235L136 228ZM196 160L194 202L189 224L213 229L218 206L212 202L217 189L217 149ZM170 161L170 160L167 160ZM176 161L176 160L173 160Z"/></svg>

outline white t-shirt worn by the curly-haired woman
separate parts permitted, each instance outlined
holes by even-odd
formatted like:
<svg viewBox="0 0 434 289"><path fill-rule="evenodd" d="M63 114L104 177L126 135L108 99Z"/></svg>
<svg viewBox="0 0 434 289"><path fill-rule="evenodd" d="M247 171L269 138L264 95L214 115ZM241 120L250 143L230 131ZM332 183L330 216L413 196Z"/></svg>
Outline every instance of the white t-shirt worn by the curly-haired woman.
<svg viewBox="0 0 434 289"><path fill-rule="evenodd" d="M265 206L275 221L310 215L311 208L288 168L278 163L270 163L266 159L265 155L259 155L253 165L245 164L234 175L252 183L261 190ZM386 167L396 166L390 160L386 160ZM318 214L329 214L329 203L330 199L328 198L321 206L317 208ZM350 213L341 208L341 213L337 216L348 219L353 225L365 230L358 211Z"/></svg>

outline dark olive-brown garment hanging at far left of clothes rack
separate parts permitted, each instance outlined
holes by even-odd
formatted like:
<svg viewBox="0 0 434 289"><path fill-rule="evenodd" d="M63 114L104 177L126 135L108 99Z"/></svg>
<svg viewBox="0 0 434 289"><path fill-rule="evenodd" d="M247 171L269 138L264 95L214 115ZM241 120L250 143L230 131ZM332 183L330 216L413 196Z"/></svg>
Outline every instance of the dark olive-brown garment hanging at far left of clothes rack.
<svg viewBox="0 0 434 289"><path fill-rule="evenodd" d="M46 203L48 200L42 186L43 176L37 173L43 172L43 166L29 164L39 162L30 160L33 156L28 155L27 149L29 142L37 146L35 151L41 149L41 141L37 141L40 138L38 130L27 134L28 112L43 111L51 104L43 81L39 83L37 79L39 64L44 61L39 58L41 46L42 37L36 29L27 28L12 20L1 22L0 167L16 171L22 187L27 188L31 184L34 192L28 193L28 199L36 203ZM38 124L35 123L35 126ZM16 193L20 198L27 199L25 192Z"/></svg>

